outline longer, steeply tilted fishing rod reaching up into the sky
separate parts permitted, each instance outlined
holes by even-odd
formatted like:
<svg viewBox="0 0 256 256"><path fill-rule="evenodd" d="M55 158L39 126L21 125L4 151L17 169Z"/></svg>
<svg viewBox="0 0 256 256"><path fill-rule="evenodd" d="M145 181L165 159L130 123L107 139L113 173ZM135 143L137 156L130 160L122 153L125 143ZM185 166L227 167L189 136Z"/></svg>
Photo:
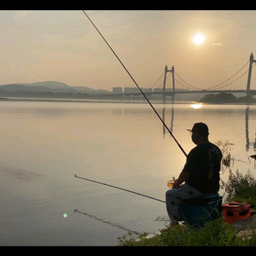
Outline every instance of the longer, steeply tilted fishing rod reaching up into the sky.
<svg viewBox="0 0 256 256"><path fill-rule="evenodd" d="M84 12L84 10L83 10ZM84 15L88 18L88 20L90 20L89 16L84 12ZM123 62L119 59L119 56L116 55L116 53L114 52L114 50L112 49L112 47L108 44L107 40L102 36L102 33L97 29L97 27L95 26L95 24L92 22L92 20L90 20L90 23L92 24L92 26L94 26L96 28L96 31L101 35L102 39L105 41L105 43L108 45L109 49L111 49L111 51L113 52L113 55L116 56L116 58L119 60L120 64L125 68L126 73L128 73L128 75L130 76L131 80L134 82L134 84L136 84L137 89L140 90L140 92L143 94L144 98L147 100L148 104L150 105L150 107L154 110L154 113L156 113L156 115L158 116L158 118L160 119L160 121L163 123L163 125L165 125L166 130L171 134L172 138L174 139L174 141L177 143L177 146L181 149L181 151L183 152L183 154L187 157L186 152L184 151L183 147L177 142L177 139L173 136L172 131L170 131L170 129L167 127L166 123L164 122L163 119L161 119L159 113L157 113L157 111L154 109L153 105L151 104L151 102L149 102L148 97L145 96L145 94L143 93L143 90L141 90L141 88L139 87L139 85L137 84L137 82L135 81L135 79L133 79L133 77L131 76L131 73L127 70L127 68L125 67L125 65L123 64Z"/></svg>

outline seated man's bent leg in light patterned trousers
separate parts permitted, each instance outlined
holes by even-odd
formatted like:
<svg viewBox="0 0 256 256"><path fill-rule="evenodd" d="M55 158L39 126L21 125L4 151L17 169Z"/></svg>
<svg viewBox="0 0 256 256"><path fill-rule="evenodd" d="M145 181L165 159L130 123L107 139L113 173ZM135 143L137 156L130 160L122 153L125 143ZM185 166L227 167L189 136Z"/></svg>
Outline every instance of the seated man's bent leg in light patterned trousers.
<svg viewBox="0 0 256 256"><path fill-rule="evenodd" d="M172 220L183 220L178 211L178 207L185 199L191 199L203 195L198 190L184 183L178 189L170 189L166 191L166 209L169 218Z"/></svg>

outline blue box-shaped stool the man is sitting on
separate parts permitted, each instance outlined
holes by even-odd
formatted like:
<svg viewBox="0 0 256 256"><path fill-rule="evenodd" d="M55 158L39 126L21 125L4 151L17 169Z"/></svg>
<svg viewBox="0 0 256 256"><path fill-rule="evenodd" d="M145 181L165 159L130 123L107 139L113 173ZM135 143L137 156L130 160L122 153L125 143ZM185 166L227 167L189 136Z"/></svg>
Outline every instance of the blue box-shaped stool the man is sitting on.
<svg viewBox="0 0 256 256"><path fill-rule="evenodd" d="M218 193L184 200L179 207L183 221L192 226L203 226L206 221L222 216L222 196Z"/></svg>

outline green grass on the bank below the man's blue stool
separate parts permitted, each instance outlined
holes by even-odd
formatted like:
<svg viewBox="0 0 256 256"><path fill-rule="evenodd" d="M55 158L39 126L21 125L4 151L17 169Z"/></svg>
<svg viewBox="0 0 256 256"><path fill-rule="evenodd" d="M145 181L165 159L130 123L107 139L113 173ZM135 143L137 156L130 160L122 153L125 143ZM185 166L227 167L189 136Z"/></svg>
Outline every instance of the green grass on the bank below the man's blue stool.
<svg viewBox="0 0 256 256"><path fill-rule="evenodd" d="M217 218L207 222L202 228L189 225L171 226L159 236L146 239L147 234L135 238L119 237L122 246L255 246L256 232L252 236L236 236L238 230Z"/></svg>

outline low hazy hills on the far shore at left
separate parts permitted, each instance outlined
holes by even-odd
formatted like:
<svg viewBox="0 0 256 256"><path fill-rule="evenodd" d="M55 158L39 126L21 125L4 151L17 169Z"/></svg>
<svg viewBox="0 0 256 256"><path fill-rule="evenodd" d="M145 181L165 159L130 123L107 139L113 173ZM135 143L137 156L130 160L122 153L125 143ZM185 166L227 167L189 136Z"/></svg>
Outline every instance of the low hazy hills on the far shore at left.
<svg viewBox="0 0 256 256"><path fill-rule="evenodd" d="M108 94L111 93L108 90L95 90L87 86L69 86L65 83L57 81L44 81L37 83L24 83L24 84L4 84L0 85L0 90L8 91L37 91L37 92L71 92L76 93L87 93L87 94Z"/></svg>

